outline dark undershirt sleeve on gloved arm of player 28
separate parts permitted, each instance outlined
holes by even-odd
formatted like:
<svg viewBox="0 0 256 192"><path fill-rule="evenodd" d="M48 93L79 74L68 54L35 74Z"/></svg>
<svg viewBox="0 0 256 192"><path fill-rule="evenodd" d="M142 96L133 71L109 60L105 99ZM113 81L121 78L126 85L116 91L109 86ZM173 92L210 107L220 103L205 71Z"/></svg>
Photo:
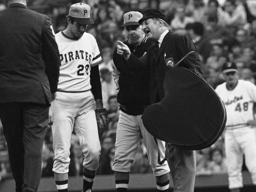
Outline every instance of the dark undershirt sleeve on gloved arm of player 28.
<svg viewBox="0 0 256 192"><path fill-rule="evenodd" d="M92 67L90 73L90 83L92 85L94 100L102 99L99 65Z"/></svg>

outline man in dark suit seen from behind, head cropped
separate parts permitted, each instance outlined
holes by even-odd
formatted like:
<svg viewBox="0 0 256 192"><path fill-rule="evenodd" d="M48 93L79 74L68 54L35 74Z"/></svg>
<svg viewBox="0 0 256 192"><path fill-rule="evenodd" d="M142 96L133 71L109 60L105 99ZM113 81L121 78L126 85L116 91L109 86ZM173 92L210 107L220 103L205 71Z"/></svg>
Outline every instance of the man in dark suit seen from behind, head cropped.
<svg viewBox="0 0 256 192"><path fill-rule="evenodd" d="M0 12L0 118L16 191L36 192L60 58L52 24L26 0Z"/></svg>

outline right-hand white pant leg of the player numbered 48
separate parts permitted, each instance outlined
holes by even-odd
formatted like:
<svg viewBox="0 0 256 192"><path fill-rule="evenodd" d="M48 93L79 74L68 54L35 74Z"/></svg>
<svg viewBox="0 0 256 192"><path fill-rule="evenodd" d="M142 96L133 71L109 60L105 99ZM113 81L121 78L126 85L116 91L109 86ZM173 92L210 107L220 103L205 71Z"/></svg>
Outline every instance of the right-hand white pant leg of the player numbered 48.
<svg viewBox="0 0 256 192"><path fill-rule="evenodd" d="M244 152L245 164L256 185L256 133L255 128L245 127L238 132L239 142Z"/></svg>

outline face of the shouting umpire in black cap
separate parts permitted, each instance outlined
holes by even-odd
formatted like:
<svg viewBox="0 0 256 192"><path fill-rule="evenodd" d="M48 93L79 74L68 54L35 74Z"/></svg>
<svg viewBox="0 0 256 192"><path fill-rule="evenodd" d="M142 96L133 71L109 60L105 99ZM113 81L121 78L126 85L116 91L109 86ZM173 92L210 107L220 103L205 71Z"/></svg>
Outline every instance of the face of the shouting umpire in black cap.
<svg viewBox="0 0 256 192"><path fill-rule="evenodd" d="M160 23L154 18L142 21L142 29L150 41L156 41L161 35Z"/></svg>

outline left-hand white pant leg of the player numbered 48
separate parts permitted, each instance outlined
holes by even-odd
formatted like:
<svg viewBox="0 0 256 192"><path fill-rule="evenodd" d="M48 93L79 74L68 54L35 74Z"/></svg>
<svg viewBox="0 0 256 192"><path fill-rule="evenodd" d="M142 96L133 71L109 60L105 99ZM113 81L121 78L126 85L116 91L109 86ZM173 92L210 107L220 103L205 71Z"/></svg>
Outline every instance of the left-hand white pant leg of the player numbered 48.
<svg viewBox="0 0 256 192"><path fill-rule="evenodd" d="M243 166L243 152L236 142L234 130L226 130L225 132L225 152L228 169L228 187L242 188L242 166Z"/></svg>

